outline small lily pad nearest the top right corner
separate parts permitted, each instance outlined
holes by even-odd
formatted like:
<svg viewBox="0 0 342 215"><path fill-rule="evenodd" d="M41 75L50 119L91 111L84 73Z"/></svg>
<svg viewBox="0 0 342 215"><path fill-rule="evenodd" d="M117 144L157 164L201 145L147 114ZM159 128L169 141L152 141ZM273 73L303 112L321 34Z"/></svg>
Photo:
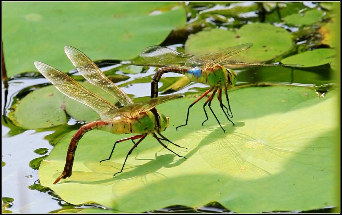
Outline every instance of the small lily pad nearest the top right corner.
<svg viewBox="0 0 342 215"><path fill-rule="evenodd" d="M284 18L284 21L290 25L312 25L319 21L323 16L323 11L310 10L301 14L291 14Z"/></svg>

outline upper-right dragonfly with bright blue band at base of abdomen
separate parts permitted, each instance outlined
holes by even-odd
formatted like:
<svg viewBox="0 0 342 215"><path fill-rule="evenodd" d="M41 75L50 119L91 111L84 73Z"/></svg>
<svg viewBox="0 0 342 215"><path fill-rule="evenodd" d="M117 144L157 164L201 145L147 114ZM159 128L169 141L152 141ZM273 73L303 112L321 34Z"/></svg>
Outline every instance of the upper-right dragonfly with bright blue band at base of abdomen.
<svg viewBox="0 0 342 215"><path fill-rule="evenodd" d="M152 86L151 86L151 98L156 98L158 96L158 82L164 73L175 72L179 74L183 74L190 79L190 81L208 84L210 89L203 93L198 99L196 99L193 103L191 103L188 107L186 121L184 125L176 127L186 126L188 124L189 111L190 108L196 104L203 97L208 95L211 91L212 94L203 104L203 110L206 115L206 120L203 121L203 124L208 120L208 115L206 112L206 106L208 104L210 111L214 115L216 121L219 123L220 127L221 123L216 117L215 113L211 109L211 101L213 100L216 92L218 96L218 100L220 102L220 106L225 116L233 125L233 121L229 119L229 117L233 117L231 106L229 104L229 98L227 90L234 87L237 81L237 74L234 70L229 69L228 67L236 66L236 65L250 65L250 66L289 66L296 67L302 65L278 65L278 64L267 64L267 63L249 63L231 59L233 55L238 54L248 48L250 48L253 43L245 43L233 47L228 47L222 49L217 52L213 52L206 55L194 56L189 54L184 54L177 52L171 48L163 47L163 46L150 46L141 52L141 57L144 58L146 62L143 63L129 63L129 65L138 65L138 66L152 66L159 67L156 74L152 78ZM125 64L125 63L122 63ZM228 108L222 103L222 89L225 91L226 99L228 102ZM225 110L226 111L225 111ZM229 111L228 111L229 109ZM223 129L223 128L222 128ZM225 131L223 129L223 131Z"/></svg>

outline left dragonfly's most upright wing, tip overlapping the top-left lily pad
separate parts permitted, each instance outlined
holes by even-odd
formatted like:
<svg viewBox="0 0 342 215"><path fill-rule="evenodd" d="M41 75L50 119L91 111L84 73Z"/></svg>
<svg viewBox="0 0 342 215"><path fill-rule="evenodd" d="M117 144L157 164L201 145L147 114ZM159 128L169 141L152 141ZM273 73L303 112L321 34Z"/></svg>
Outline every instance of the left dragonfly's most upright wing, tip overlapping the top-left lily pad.
<svg viewBox="0 0 342 215"><path fill-rule="evenodd" d="M131 98L106 75L85 54L72 46L65 46L64 51L77 71L93 85L100 87L118 100L122 105L133 104Z"/></svg>

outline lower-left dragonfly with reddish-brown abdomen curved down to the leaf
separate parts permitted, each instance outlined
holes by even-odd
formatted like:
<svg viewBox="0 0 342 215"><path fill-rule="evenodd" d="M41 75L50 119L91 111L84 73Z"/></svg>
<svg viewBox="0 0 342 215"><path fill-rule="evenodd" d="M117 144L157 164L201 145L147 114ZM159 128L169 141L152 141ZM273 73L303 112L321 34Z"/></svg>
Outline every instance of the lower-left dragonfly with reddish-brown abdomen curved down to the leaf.
<svg viewBox="0 0 342 215"><path fill-rule="evenodd" d="M102 161L110 160L117 143L132 140L134 146L129 150L126 159L123 162L121 171L115 173L113 176L123 171L123 167L128 156L148 134L151 134L163 147L175 155L186 159L186 157L175 153L161 141L164 140L172 143L175 146L181 147L171 142L161 134L161 132L164 131L169 125L169 117L159 113L155 108L156 105L167 102L171 99L179 98L181 95L163 96L149 99L141 103L134 103L123 90L111 82L95 65L95 63L81 51L71 46L65 46L64 51L73 65L77 68L78 72L84 78L86 78L87 81L105 90L109 95L113 96L119 103L121 103L123 107L118 108L115 104L93 94L78 82L73 80L73 78L57 70L56 68L39 61L35 61L35 66L39 72L53 85L55 85L59 91L61 91L67 97L89 106L95 112L97 112L101 118L101 120L92 121L81 126L81 128L78 129L78 131L73 135L67 150L64 170L62 174L55 180L54 184L56 184L62 178L71 176L77 144L84 134L93 129L103 130L114 134L137 133L132 137L117 140L114 143L109 158L100 161L101 163ZM159 134L160 137L158 137L156 133ZM135 143L134 140L137 139L139 140Z"/></svg>

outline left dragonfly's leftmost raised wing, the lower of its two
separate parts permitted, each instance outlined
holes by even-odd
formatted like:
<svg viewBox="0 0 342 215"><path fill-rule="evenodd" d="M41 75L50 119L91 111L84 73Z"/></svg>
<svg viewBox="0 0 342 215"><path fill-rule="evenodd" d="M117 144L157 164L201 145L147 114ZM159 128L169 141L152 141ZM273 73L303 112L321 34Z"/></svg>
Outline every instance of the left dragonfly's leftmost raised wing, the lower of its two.
<svg viewBox="0 0 342 215"><path fill-rule="evenodd" d="M101 116L101 119L109 119L109 117L112 116L112 114L109 113L118 109L114 104L96 96L56 68L39 61L35 62L35 66L59 91L67 97L89 106Z"/></svg>

